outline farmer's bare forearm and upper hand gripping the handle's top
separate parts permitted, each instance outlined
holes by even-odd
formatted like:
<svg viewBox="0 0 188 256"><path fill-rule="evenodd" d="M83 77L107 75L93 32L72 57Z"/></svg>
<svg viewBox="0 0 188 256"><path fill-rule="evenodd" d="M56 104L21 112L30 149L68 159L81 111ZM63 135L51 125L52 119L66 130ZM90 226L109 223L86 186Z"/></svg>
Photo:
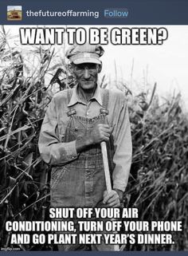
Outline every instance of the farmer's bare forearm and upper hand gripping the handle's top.
<svg viewBox="0 0 188 256"><path fill-rule="evenodd" d="M92 144L100 144L102 141L108 141L112 128L108 124L96 124L92 130L85 130L83 136L76 138L76 151L82 152Z"/></svg>

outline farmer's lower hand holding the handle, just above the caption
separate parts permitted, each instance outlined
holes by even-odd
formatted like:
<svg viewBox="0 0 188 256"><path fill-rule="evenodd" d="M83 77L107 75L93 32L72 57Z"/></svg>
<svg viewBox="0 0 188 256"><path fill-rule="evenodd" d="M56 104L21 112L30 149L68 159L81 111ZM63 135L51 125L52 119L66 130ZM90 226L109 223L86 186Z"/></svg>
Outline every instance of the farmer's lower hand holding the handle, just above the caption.
<svg viewBox="0 0 188 256"><path fill-rule="evenodd" d="M104 191L103 203L107 207L120 207L120 199L117 191L112 190L110 193Z"/></svg>

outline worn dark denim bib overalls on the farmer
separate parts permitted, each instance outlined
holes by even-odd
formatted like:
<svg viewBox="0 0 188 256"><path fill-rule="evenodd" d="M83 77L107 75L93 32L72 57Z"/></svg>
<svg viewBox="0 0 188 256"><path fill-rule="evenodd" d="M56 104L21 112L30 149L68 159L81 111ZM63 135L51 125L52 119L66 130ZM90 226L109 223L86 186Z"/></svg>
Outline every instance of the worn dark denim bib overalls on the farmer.
<svg viewBox="0 0 188 256"><path fill-rule="evenodd" d="M68 104L72 90L68 90ZM76 140L85 129L92 129L95 124L108 123L108 90L103 93L103 108L100 115L93 118L76 116L76 110L69 107L69 121L65 129L63 142ZM112 173L112 136L108 143L109 167ZM90 146L81 152L76 160L64 166L53 168L51 174L51 202L53 207L98 207L102 205L106 190L104 164L100 144Z"/></svg>

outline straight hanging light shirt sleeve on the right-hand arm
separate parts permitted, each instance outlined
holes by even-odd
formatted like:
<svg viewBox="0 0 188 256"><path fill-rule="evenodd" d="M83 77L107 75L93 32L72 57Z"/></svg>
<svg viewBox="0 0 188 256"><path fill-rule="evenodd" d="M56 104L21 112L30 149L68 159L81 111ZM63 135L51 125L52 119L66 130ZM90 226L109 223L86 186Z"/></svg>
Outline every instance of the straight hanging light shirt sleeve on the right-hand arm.
<svg viewBox="0 0 188 256"><path fill-rule="evenodd" d="M119 100L119 116L117 116L116 129L114 130L115 155L113 162L113 188L125 191L131 168L132 143L131 127L127 109L126 99Z"/></svg>

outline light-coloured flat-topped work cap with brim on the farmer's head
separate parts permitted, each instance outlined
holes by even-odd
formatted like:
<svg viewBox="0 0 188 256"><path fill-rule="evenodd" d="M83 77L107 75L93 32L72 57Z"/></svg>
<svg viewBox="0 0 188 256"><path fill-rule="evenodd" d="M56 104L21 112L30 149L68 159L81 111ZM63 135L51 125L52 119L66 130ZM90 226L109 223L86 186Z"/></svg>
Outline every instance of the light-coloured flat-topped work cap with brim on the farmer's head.
<svg viewBox="0 0 188 256"><path fill-rule="evenodd" d="M104 53L101 45L72 45L66 52L66 57L70 62L78 65L81 63L96 63L101 64L100 56Z"/></svg>

